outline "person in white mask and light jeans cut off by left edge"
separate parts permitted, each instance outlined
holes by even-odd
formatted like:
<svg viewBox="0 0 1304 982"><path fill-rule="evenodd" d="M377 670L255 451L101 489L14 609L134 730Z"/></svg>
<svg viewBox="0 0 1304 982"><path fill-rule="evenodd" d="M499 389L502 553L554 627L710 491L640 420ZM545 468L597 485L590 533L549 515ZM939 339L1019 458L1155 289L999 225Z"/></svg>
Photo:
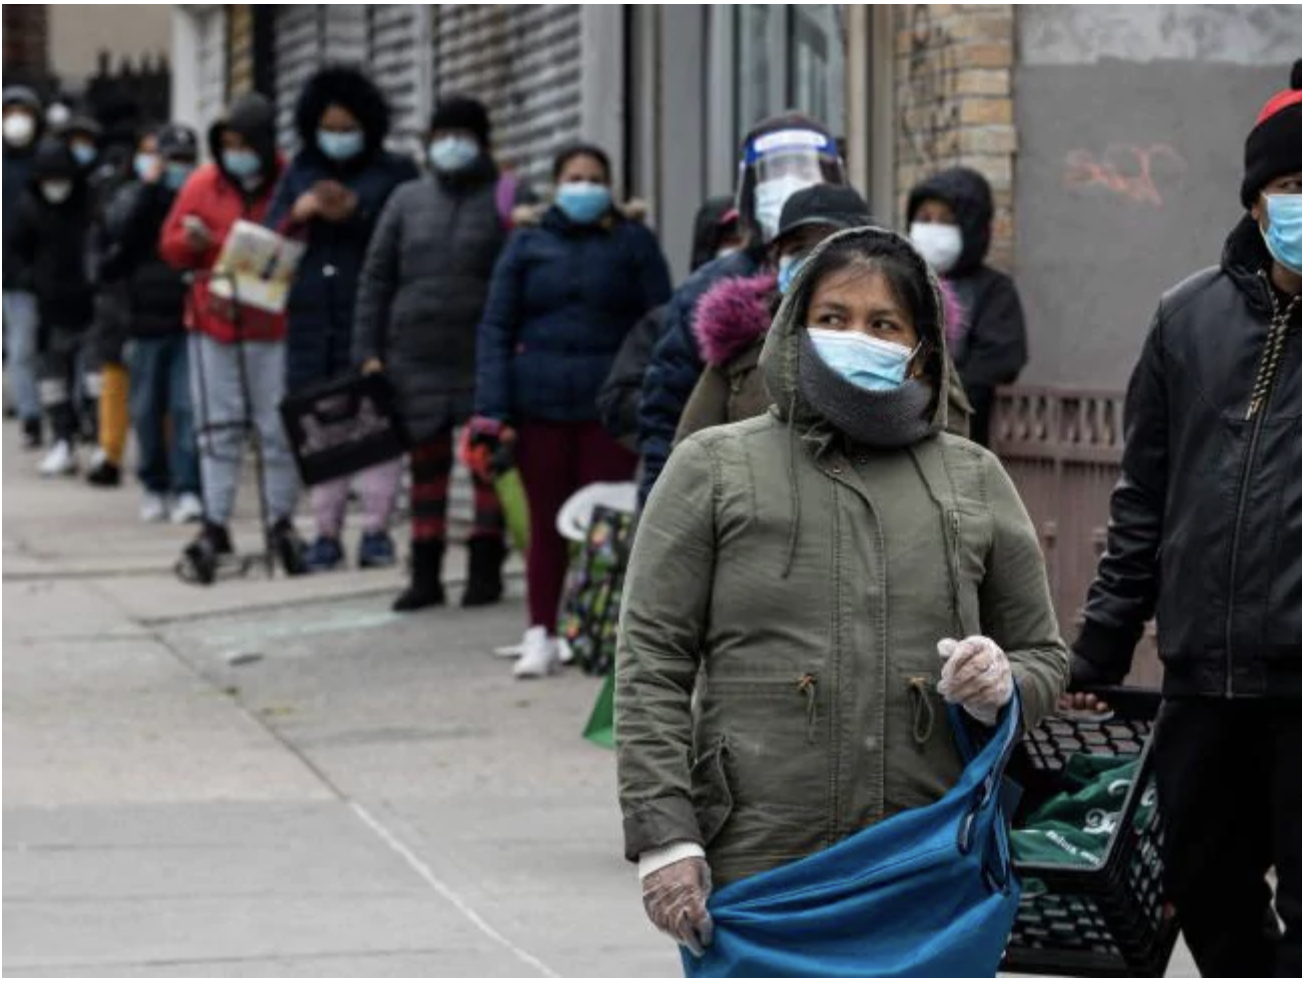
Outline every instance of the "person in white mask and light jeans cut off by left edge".
<svg viewBox="0 0 1304 982"><path fill-rule="evenodd" d="M40 99L25 86L5 86L4 100L4 343L5 369L14 411L29 450L40 446L40 395L37 390L37 297L12 240L18 202L27 193L40 140Z"/></svg>

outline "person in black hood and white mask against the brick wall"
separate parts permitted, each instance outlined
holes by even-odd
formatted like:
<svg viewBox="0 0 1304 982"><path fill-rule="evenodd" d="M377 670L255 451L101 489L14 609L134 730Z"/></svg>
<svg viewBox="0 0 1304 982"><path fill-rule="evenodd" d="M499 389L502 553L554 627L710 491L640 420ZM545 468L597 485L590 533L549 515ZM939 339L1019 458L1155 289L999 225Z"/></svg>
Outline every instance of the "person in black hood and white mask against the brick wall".
<svg viewBox="0 0 1304 982"><path fill-rule="evenodd" d="M992 198L987 179L952 167L910 192L910 241L955 291L961 316L947 325L952 356L973 406L970 439L990 443L996 387L1028 364L1028 331L1015 280L986 265Z"/></svg>

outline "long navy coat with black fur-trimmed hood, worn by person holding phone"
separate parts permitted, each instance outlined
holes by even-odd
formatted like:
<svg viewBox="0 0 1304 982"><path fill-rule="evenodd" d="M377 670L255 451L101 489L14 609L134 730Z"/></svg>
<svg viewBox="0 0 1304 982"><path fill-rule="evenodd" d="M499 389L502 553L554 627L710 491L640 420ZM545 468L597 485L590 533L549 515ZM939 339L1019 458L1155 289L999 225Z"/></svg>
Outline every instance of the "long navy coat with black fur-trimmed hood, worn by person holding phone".
<svg viewBox="0 0 1304 982"><path fill-rule="evenodd" d="M317 146L327 107L343 106L361 124L365 145L348 160L333 160ZM295 391L343 373L352 363L357 282L376 222L400 184L416 180L416 166L385 150L390 111L379 89L351 68L327 68L304 86L295 110L299 153L280 179L263 222L308 245L289 291L287 309L287 387ZM357 196L343 222L295 222L300 196L318 181L336 181Z"/></svg>

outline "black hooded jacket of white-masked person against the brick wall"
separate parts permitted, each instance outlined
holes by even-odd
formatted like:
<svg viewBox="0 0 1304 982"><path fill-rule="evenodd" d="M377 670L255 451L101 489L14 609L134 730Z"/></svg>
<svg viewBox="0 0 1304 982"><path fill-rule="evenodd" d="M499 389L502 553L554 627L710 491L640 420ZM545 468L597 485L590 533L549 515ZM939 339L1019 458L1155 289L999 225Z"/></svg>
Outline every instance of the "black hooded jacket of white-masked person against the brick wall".
<svg viewBox="0 0 1304 982"><path fill-rule="evenodd" d="M913 222L928 198L944 201L956 213L964 252L945 275L964 308L964 326L948 335L960 381L974 408L969 438L987 446L996 387L1009 385L1028 364L1028 333L1015 280L986 266L994 214L991 185L978 171L951 167L910 192L906 222Z"/></svg>

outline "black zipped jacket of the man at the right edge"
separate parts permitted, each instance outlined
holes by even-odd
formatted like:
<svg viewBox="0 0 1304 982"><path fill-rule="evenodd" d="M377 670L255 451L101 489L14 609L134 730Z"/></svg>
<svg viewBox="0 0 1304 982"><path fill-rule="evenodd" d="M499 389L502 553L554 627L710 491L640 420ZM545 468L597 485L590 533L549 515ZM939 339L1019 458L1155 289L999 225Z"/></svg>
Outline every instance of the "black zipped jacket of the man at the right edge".
<svg viewBox="0 0 1304 982"><path fill-rule="evenodd" d="M1154 614L1166 695L1300 696L1300 306L1269 266L1245 218L1221 266L1159 301L1080 683L1121 679Z"/></svg>

